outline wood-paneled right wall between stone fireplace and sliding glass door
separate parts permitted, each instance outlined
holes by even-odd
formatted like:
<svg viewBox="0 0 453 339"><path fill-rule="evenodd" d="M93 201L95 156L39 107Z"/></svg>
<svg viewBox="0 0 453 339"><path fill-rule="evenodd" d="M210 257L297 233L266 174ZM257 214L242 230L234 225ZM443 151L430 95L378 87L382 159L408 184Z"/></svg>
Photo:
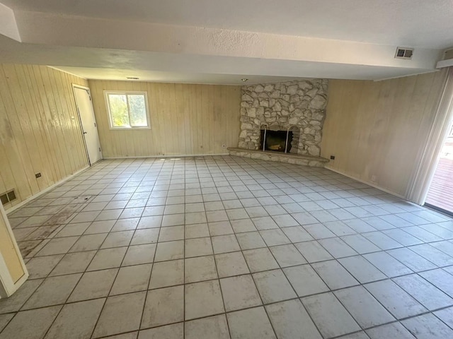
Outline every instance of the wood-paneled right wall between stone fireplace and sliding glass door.
<svg viewBox="0 0 453 339"><path fill-rule="evenodd" d="M406 195L447 69L386 81L332 80L321 156L328 168Z"/></svg>

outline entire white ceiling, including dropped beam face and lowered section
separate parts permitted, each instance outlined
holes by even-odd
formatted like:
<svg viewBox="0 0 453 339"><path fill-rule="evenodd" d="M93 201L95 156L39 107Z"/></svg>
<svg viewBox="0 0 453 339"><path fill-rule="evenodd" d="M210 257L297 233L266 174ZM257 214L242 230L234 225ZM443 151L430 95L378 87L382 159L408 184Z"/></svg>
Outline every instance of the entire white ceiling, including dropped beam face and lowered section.
<svg viewBox="0 0 453 339"><path fill-rule="evenodd" d="M0 62L104 80L380 80L435 71L453 46L452 0L0 2L21 40L0 34ZM397 46L413 59L394 59Z"/></svg>

